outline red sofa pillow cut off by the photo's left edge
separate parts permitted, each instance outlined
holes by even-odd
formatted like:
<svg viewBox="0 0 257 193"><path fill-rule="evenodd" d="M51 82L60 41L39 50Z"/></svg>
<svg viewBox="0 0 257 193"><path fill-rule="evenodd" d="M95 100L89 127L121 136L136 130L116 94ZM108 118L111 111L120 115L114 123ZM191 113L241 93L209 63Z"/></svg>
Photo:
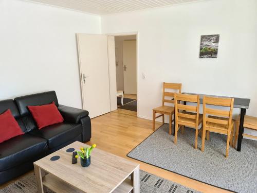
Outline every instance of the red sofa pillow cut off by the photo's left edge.
<svg viewBox="0 0 257 193"><path fill-rule="evenodd" d="M10 109L0 115L0 143L22 134L24 133L15 118L12 116Z"/></svg>

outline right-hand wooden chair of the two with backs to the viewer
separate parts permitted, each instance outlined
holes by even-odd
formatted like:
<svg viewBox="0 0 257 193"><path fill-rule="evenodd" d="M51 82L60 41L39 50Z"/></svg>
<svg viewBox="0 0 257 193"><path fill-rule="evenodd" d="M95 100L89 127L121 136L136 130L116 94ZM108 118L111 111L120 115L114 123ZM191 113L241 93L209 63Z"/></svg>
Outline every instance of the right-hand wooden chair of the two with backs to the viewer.
<svg viewBox="0 0 257 193"><path fill-rule="evenodd" d="M211 107L206 107L206 104L212 106L229 107L229 110L217 110ZM204 127L202 135L201 151L205 150L205 134L206 131L221 133L227 135L226 157L228 157L229 145L232 146L234 120L232 119L232 111L234 106L234 98L218 98L204 96Z"/></svg>

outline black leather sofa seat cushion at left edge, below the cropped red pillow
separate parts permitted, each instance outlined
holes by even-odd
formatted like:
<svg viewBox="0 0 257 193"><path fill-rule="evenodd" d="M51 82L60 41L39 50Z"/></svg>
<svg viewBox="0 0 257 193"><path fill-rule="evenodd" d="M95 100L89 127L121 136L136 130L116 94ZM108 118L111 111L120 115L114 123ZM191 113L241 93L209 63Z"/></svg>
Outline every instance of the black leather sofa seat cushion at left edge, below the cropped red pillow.
<svg viewBox="0 0 257 193"><path fill-rule="evenodd" d="M48 150L45 139L19 135L0 144L0 171L20 165Z"/></svg>

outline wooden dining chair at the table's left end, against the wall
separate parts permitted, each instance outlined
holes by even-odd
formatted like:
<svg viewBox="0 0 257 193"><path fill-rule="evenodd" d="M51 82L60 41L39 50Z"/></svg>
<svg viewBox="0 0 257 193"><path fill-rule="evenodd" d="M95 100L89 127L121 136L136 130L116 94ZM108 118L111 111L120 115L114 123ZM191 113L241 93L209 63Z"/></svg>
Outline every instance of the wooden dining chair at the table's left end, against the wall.
<svg viewBox="0 0 257 193"><path fill-rule="evenodd" d="M180 83L166 83L163 82L162 88L162 106L153 109L153 131L155 131L155 119L162 116L162 124L164 124L164 115L169 115L170 126L169 134L171 135L172 115L174 114L174 107L166 106L166 103L174 103L174 93L181 93L182 84ZM172 91L170 91L172 90ZM169 99L167 98L169 97ZM156 116L156 113L160 114Z"/></svg>

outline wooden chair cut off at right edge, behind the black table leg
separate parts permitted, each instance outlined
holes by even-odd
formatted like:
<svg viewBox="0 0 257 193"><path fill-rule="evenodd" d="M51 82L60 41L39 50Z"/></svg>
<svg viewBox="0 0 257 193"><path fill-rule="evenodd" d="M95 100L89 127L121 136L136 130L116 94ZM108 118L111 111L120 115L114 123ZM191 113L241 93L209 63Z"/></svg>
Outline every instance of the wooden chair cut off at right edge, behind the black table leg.
<svg viewBox="0 0 257 193"><path fill-rule="evenodd" d="M235 147L235 144L237 142L239 123L240 123L240 115L238 116L238 118L235 121L236 130L235 130L235 138L234 138L234 142L233 142L233 147ZM251 129L251 130L257 130L257 117L245 115L244 128ZM243 133L243 136L257 139L257 136L255 136L255 135L249 135L249 134Z"/></svg>

